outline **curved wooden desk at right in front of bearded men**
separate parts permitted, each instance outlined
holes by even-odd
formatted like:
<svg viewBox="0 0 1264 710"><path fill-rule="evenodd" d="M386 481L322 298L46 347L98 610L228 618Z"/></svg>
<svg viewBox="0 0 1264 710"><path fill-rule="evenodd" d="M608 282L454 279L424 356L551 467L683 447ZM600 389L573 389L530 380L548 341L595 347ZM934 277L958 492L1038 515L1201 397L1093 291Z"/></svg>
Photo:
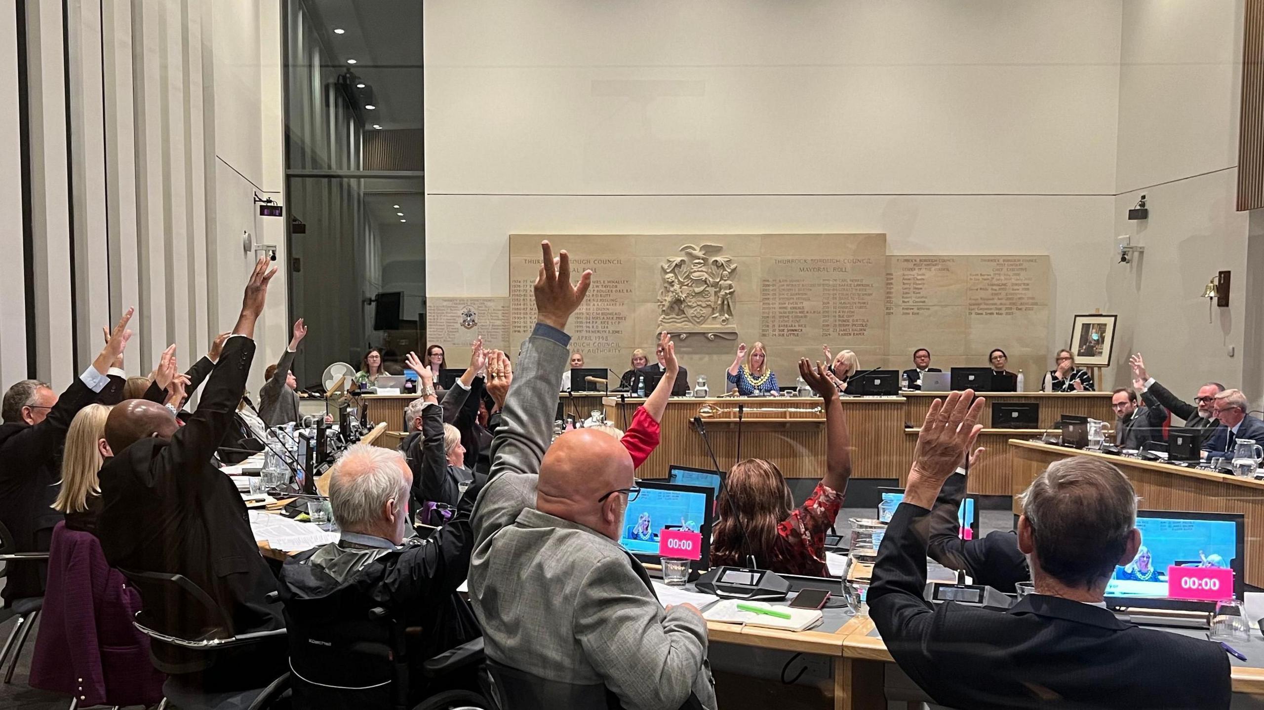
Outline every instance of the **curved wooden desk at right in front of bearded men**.
<svg viewBox="0 0 1264 710"><path fill-rule="evenodd" d="M1264 481L1030 441L1011 440L1010 446L1014 447L1010 491L1015 496L1049 464L1068 456L1091 456L1124 471L1141 496L1138 504L1141 509L1243 513L1246 517L1246 582L1264 586ZM1014 512L1021 512L1018 498Z"/></svg>

